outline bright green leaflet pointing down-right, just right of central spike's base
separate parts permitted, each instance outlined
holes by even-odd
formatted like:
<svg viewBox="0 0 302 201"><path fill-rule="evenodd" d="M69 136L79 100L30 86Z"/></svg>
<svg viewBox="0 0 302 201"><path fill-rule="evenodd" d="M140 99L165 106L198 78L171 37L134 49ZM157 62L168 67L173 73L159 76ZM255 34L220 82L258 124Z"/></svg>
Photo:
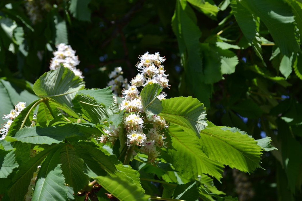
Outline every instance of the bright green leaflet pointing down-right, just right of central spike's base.
<svg viewBox="0 0 302 201"><path fill-rule="evenodd" d="M170 125L172 147L168 153L172 164L179 174L188 179L196 179L198 175L209 174L218 180L222 177L223 164L207 157L202 151L198 137L186 133L177 125ZM191 164L188 167L188 164Z"/></svg>

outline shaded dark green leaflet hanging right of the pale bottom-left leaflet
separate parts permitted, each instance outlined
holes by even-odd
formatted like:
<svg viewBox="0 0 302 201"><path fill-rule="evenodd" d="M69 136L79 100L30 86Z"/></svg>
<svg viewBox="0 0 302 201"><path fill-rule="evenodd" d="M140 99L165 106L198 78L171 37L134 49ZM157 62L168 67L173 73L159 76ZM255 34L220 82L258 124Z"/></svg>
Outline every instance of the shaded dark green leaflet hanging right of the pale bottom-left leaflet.
<svg viewBox="0 0 302 201"><path fill-rule="evenodd" d="M76 151L69 145L61 150L61 168L65 177L65 183L69 184L76 195L85 185L88 184L88 177L83 173L83 161L76 155Z"/></svg>

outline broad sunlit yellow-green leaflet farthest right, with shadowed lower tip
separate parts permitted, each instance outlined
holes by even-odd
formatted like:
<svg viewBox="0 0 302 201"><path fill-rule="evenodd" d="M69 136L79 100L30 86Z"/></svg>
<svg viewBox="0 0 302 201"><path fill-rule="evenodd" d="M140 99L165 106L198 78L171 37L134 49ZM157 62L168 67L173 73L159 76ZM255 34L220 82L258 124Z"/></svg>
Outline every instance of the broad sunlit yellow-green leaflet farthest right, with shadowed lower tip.
<svg viewBox="0 0 302 201"><path fill-rule="evenodd" d="M260 167L262 149L248 135L232 132L210 123L200 132L203 152L224 165L240 171L252 172Z"/></svg>

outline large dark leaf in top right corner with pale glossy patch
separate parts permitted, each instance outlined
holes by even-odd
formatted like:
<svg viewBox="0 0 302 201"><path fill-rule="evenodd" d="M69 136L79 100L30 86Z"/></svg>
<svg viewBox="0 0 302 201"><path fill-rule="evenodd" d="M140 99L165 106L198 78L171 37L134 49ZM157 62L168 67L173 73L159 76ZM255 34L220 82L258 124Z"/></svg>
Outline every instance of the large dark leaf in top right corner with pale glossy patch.
<svg viewBox="0 0 302 201"><path fill-rule="evenodd" d="M300 49L295 38L294 15L286 3L282 0L242 0L241 3L260 17L283 55L289 57Z"/></svg>

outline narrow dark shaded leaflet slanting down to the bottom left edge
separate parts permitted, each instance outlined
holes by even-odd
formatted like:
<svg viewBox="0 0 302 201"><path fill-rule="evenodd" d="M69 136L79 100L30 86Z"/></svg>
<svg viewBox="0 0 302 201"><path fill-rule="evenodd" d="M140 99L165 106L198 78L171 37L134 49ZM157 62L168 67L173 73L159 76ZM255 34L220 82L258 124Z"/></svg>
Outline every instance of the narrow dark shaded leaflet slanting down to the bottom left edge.
<svg viewBox="0 0 302 201"><path fill-rule="evenodd" d="M23 200L24 195L27 192L27 188L31 182L34 172L37 170L37 166L41 164L43 159L53 149L60 149L61 145L50 146L44 151L37 154L35 157L30 158L25 165L22 165L17 174L13 177L13 184L8 191L10 200Z"/></svg>

